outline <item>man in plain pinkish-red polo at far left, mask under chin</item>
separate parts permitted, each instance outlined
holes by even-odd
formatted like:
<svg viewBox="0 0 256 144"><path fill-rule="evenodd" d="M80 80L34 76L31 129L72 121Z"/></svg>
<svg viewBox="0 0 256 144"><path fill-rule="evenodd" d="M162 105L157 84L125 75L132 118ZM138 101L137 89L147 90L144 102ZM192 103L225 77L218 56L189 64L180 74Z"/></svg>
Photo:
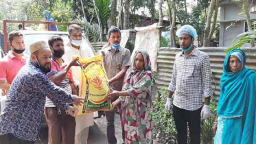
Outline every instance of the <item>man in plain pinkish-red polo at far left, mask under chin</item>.
<svg viewBox="0 0 256 144"><path fill-rule="evenodd" d="M18 31L12 31L9 34L11 51L0 60L0 88L9 91L12 81L23 67L28 56L25 56L25 44L23 34Z"/></svg>

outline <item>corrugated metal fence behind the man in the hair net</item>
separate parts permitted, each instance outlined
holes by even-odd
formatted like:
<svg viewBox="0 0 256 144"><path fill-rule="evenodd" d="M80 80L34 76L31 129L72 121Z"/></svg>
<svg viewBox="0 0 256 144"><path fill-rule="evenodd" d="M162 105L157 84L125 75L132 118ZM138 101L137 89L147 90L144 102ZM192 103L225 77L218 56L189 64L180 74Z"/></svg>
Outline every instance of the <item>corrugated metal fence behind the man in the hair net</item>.
<svg viewBox="0 0 256 144"><path fill-rule="evenodd" d="M211 72L213 79L211 81L212 88L215 88L213 98L218 99L220 96L220 77L222 76L222 67L226 52L224 49L228 47L205 47L198 48L204 51L211 58ZM246 53L246 67L256 70L256 47L242 48ZM172 68L176 53L180 52L178 48L161 47L157 57L157 75L156 75L156 88L167 88L172 80ZM214 82L215 81L215 82ZM217 86L216 86L217 85Z"/></svg>

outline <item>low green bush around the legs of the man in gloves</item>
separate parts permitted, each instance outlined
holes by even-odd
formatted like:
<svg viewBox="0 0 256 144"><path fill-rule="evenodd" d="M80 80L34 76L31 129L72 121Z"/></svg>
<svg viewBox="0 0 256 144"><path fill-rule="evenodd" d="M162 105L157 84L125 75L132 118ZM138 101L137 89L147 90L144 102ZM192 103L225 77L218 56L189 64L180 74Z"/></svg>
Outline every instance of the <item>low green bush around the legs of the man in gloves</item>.
<svg viewBox="0 0 256 144"><path fill-rule="evenodd" d="M165 101L168 95L166 88L159 89L156 95L156 103L153 104L152 119L153 119L153 137L156 143L178 143L176 137L176 127L172 117L172 106L170 112L165 113ZM213 143L214 134L211 132L213 121L216 117L217 106L215 101L211 99L210 104L211 117L201 122L201 143ZM189 139L189 131L188 139Z"/></svg>

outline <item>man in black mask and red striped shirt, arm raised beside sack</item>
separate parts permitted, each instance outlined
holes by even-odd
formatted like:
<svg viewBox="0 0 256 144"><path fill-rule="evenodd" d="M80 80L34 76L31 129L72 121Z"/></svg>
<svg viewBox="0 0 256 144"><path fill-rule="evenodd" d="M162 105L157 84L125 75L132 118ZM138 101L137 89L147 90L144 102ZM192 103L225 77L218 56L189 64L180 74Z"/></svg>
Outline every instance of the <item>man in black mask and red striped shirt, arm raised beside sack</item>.
<svg viewBox="0 0 256 144"><path fill-rule="evenodd" d="M63 39L60 36L53 36L48 40L51 48L51 71L47 76L60 88L67 93L78 95L78 89L75 88L71 67L78 66L78 60L73 60L69 64L62 60L65 53ZM58 108L46 97L45 101L45 119L48 124L49 144L59 144L60 138L62 144L75 143L75 117L67 115L65 110Z"/></svg>

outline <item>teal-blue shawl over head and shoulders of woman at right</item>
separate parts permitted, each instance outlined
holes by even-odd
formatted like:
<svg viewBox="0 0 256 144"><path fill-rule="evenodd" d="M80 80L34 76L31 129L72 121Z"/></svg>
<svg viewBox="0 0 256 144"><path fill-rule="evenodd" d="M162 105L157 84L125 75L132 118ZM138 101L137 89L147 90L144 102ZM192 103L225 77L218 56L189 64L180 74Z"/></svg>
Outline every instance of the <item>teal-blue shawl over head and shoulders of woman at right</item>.
<svg viewBox="0 0 256 144"><path fill-rule="evenodd" d="M242 69L232 73L229 67L229 58L237 56L242 62ZM246 55L241 49L233 49L227 54L223 63L223 75L220 79L220 99L218 115L222 117L240 117L245 106L245 94L248 90L249 75L253 70L245 68ZM256 94L256 93L255 93Z"/></svg>

